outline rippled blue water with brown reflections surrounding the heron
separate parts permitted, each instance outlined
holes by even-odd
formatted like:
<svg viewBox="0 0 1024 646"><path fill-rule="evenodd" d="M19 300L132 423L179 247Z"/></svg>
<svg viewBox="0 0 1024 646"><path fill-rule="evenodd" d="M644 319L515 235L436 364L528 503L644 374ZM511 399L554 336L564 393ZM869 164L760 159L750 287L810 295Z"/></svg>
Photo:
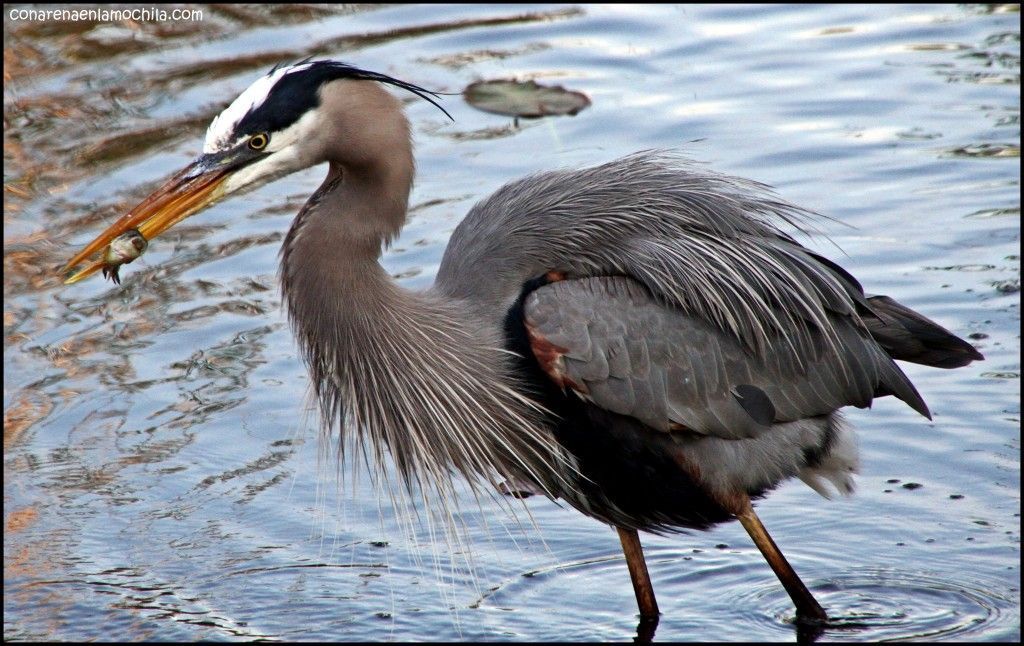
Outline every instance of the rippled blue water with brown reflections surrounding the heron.
<svg viewBox="0 0 1024 646"><path fill-rule="evenodd" d="M617 539L593 520L530 499L534 529L467 501L469 572L466 550L411 540L365 480L338 486L274 273L323 169L176 227L121 287L60 285L57 266L190 160L228 100L310 54L447 92L532 78L593 102L516 128L458 95L455 124L411 99L415 208L385 257L408 287L506 180L644 147L834 217L845 255L810 244L986 360L906 367L934 421L888 399L851 411L858 494L788 483L761 516L836 619L823 640L1020 639L1016 7L202 9L187 24L5 13L5 639L636 634ZM796 638L738 524L643 540L655 639Z"/></svg>

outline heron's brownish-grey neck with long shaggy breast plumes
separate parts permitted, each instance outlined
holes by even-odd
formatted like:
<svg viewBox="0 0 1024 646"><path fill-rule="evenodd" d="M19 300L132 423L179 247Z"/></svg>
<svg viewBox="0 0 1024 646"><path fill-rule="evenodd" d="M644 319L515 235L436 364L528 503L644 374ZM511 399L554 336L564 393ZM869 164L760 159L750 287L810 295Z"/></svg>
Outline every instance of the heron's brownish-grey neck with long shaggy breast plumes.
<svg viewBox="0 0 1024 646"><path fill-rule="evenodd" d="M565 459L514 388L498 331L459 301L401 289L378 262L411 177L332 167L285 241L282 289L324 428L340 422L343 449L369 449L379 473L389 451L445 512L453 468L471 483L526 477L554 492Z"/></svg>

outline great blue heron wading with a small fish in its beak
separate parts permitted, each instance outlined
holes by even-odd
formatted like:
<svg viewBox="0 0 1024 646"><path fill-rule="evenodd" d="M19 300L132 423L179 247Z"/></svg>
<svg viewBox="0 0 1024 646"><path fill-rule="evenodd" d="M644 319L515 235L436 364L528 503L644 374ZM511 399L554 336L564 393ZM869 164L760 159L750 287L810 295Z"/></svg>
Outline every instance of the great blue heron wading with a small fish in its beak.
<svg viewBox="0 0 1024 646"><path fill-rule="evenodd" d="M199 159L68 267L327 163L281 254L327 429L378 468L389 453L446 511L457 472L613 525L644 618L658 611L637 531L738 518L798 617L825 621L751 500L794 476L849 493L857 449L839 410L895 395L928 417L894 359L956 368L981 354L778 227L799 229L807 211L656 152L504 186L456 228L433 287L404 290L379 263L414 175L385 85L440 107L342 62L272 70L214 119Z"/></svg>

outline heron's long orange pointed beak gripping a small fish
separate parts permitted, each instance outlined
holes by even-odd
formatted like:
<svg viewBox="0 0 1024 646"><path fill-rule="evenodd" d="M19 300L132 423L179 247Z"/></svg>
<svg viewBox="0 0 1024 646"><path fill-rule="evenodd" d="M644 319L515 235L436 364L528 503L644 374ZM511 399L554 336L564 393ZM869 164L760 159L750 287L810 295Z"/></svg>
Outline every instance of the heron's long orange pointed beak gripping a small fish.
<svg viewBox="0 0 1024 646"><path fill-rule="evenodd" d="M62 272L67 274L129 229L138 229L146 241L152 241L189 215L203 210L223 195L221 186L232 170L223 160L215 160L210 156L196 160L75 254L65 265ZM65 285L78 283L103 265L102 257L95 258L68 275Z"/></svg>

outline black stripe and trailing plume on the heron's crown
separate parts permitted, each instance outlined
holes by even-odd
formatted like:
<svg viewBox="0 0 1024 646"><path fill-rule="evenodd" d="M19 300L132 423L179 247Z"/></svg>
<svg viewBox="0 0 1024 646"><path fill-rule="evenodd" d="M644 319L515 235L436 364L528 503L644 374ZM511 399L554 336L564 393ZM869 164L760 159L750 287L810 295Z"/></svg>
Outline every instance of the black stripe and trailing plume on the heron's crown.
<svg viewBox="0 0 1024 646"><path fill-rule="evenodd" d="M386 83L433 103L438 110L449 115L434 100L436 93L418 85L399 81L384 74L359 70L336 60L316 60L307 63L309 67L284 75L270 89L258 107L248 113L234 128L236 135L253 135L259 132L280 132L293 125L302 115L319 105L319 88L325 83L338 79L355 79ZM453 120L454 121L454 120Z"/></svg>

